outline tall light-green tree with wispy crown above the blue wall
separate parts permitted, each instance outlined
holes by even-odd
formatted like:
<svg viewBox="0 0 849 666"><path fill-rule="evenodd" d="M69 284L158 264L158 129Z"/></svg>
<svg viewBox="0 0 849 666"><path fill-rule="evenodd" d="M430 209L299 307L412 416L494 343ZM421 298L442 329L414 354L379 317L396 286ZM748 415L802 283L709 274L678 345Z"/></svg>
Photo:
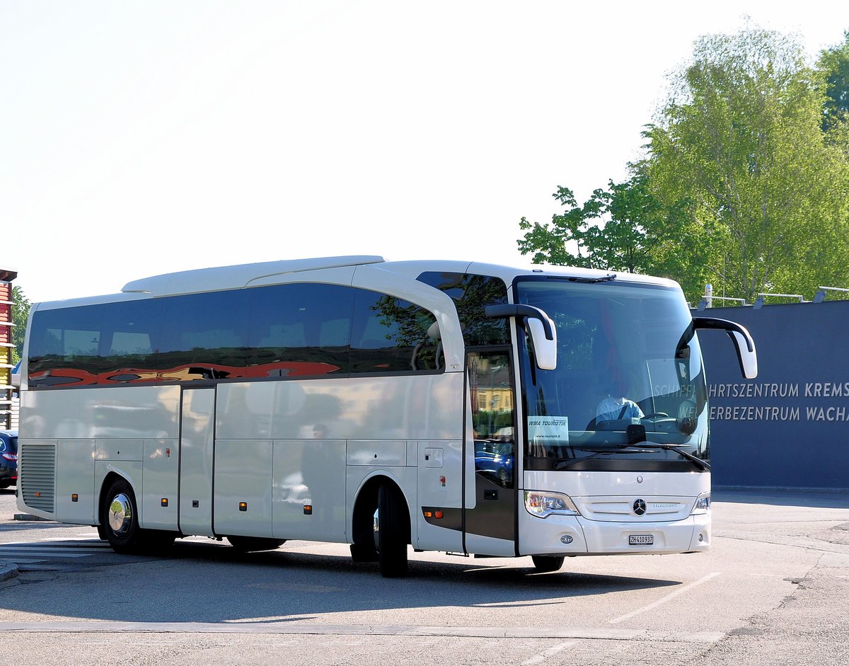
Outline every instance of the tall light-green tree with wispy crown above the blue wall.
<svg viewBox="0 0 849 666"><path fill-rule="evenodd" d="M800 44L756 28L702 37L672 83L646 171L664 205L688 202L715 292L849 282L849 164L824 140L824 79Z"/></svg>

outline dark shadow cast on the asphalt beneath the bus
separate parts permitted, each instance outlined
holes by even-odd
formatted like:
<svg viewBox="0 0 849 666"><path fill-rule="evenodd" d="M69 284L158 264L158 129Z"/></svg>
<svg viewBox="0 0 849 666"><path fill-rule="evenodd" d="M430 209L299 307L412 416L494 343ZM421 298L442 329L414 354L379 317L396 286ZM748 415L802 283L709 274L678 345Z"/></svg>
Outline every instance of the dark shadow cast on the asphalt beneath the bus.
<svg viewBox="0 0 849 666"><path fill-rule="evenodd" d="M568 611L570 601L616 592L675 587L682 581L575 573L535 573L530 566L481 565L463 558L411 558L409 575L385 579L377 564L346 556L281 548L240 553L228 546L177 542L162 556L118 556L98 567L39 579L25 571L4 590L7 612L58 618L147 623L274 623L329 613L439 607L533 608ZM488 562L492 562L489 560ZM117 568L121 565L121 568ZM559 607L559 608L554 608ZM405 624L368 618L370 623ZM377 617L380 617L380 613ZM324 618L326 619L326 618Z"/></svg>

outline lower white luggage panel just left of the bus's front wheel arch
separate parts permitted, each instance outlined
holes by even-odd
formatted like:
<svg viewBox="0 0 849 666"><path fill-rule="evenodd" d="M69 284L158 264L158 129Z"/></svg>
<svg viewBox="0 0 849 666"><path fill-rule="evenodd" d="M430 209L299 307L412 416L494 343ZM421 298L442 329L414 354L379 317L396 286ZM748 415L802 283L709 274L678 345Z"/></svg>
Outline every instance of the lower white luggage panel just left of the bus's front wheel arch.
<svg viewBox="0 0 849 666"><path fill-rule="evenodd" d="M344 543L344 478L344 439L276 440L273 536Z"/></svg>

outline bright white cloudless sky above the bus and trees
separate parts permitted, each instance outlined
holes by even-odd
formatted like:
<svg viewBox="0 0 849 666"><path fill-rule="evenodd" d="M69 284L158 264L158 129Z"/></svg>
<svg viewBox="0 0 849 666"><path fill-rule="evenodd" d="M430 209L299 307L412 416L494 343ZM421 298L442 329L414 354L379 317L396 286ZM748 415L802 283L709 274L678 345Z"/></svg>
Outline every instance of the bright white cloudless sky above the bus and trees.
<svg viewBox="0 0 849 666"><path fill-rule="evenodd" d="M842 41L849 4L0 0L0 267L31 301L340 254L526 263L623 178L666 75L744 16Z"/></svg>

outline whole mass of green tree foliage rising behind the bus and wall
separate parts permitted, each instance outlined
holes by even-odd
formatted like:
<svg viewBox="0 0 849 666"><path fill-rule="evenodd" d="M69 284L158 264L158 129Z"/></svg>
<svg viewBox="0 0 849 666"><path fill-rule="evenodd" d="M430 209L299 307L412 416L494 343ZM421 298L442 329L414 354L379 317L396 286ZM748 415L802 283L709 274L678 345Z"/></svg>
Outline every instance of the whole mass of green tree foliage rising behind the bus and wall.
<svg viewBox="0 0 849 666"><path fill-rule="evenodd" d="M811 297L849 286L849 31L818 64L796 37L709 35L671 77L631 178L550 224L522 218L537 262L658 274L691 300Z"/></svg>

